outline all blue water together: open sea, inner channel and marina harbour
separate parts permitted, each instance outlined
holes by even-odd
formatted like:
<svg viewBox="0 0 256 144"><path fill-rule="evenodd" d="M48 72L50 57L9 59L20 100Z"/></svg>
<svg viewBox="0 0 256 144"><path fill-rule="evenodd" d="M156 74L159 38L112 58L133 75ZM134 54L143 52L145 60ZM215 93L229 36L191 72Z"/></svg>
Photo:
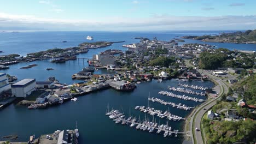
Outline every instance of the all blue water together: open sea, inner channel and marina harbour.
<svg viewBox="0 0 256 144"><path fill-rule="evenodd" d="M126 40L125 43L117 43L112 46L102 49L90 50L88 53L83 53L78 57L91 58L92 55L97 54L107 49L119 49L125 51L126 48L121 47L123 44L135 43L139 40L134 37L157 37L159 40L171 40L176 36L183 35L203 35L203 34L218 34L219 32L27 32L27 33L0 33L0 50L5 51L4 55L9 53L19 53L25 56L29 52L37 52L53 47L69 47L77 46L79 43L87 41L86 35L94 36L94 41L121 41ZM61 43L62 40L68 43ZM196 41L202 43L201 41ZM193 40L186 40L186 43L195 43ZM226 47L228 49L245 49L255 50L256 45L249 44L223 44L213 43L218 47ZM3 53L2 53L3 55ZM38 64L37 67L31 69L20 69L28 64ZM37 61L31 63L19 63L10 65L8 70L0 70L0 73L8 73L15 75L19 80L25 78L36 78L37 81L46 80L49 76L55 76L61 83L71 84L73 81L71 75L80 71L88 64L83 61L69 61L63 64L50 63L48 61ZM47 71L45 68L54 68L55 70ZM99 70L96 74L113 73L113 71ZM212 87L213 83L210 81L201 82L183 82L199 86ZM129 109L133 116L141 118L144 113L135 111L134 107L137 105L148 105L148 93L150 91L151 97L161 98L174 103L182 103L188 106L196 106L200 103L193 101L179 100L176 98L159 95L158 92L165 90L167 86L177 86L178 81L170 80L158 83L156 81L141 83L137 86L135 91L124 93L117 92L113 89L106 89L101 92L86 94L79 97L78 101L68 101L62 105L50 107L45 110L28 110L25 106L10 105L4 110L0 111L0 137L4 135L16 134L19 135L18 141L27 141L29 136L36 134L53 133L57 129L74 129L75 121L78 122L80 131L80 143L182 143L182 136L164 138L163 134L149 134L145 131L139 131L135 128L125 127L124 125L117 125L111 121L104 114L106 112L107 104L113 109L123 109L126 115L129 115ZM178 93L178 92L177 92ZM190 94L186 94L190 95ZM205 98L202 96L190 95L197 98ZM155 109L165 111L168 106L158 103L150 103ZM185 117L190 111L183 111L169 108L174 115ZM152 119L152 116L149 116ZM166 123L166 119L156 118L157 122ZM182 130L183 121L173 122L169 121L174 129Z"/></svg>

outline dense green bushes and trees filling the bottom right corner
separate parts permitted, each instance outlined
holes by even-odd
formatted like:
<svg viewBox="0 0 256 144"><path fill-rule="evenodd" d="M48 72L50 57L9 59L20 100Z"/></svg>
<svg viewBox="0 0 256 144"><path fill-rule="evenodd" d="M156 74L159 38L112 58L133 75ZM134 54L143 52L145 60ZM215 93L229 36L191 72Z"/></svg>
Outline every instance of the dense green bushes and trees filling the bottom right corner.
<svg viewBox="0 0 256 144"><path fill-rule="evenodd" d="M234 143L236 141L246 140L248 143L254 143L256 140L256 122L251 121L214 121L210 124L210 119L203 118L203 130L206 134L207 143Z"/></svg>

